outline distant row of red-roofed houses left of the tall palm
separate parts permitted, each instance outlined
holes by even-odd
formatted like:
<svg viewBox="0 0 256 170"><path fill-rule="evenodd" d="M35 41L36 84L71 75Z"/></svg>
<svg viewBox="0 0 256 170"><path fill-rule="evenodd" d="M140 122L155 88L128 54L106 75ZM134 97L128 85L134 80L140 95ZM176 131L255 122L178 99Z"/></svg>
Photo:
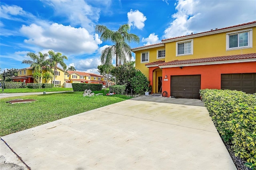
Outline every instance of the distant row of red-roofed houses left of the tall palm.
<svg viewBox="0 0 256 170"><path fill-rule="evenodd" d="M67 71L65 81L66 83L94 83L106 85L106 81L102 75L81 71Z"/></svg>

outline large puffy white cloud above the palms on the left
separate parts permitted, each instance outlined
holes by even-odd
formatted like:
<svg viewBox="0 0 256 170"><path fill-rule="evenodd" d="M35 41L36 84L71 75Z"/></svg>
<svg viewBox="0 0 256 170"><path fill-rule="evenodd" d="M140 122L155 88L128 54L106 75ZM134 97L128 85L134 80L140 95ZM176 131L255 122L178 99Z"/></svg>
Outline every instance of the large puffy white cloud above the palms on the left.
<svg viewBox="0 0 256 170"><path fill-rule="evenodd" d="M28 37L25 43L44 49L53 49L65 54L93 53L102 43L98 35L91 35L85 28L74 28L62 24L51 24L46 28L31 24L23 25L20 32Z"/></svg>

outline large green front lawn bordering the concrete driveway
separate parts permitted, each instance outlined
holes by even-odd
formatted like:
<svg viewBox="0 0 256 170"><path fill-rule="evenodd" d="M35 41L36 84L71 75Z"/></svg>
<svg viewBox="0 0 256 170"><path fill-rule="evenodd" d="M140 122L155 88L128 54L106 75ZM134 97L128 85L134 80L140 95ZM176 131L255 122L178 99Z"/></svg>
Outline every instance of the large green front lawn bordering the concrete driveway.
<svg viewBox="0 0 256 170"><path fill-rule="evenodd" d="M0 99L0 136L131 98L125 95L106 96L104 92L105 90L94 91L95 94L103 93L103 95L94 97L83 97L83 92L64 92ZM33 103L6 103L6 101L13 99L35 99L37 101Z"/></svg>

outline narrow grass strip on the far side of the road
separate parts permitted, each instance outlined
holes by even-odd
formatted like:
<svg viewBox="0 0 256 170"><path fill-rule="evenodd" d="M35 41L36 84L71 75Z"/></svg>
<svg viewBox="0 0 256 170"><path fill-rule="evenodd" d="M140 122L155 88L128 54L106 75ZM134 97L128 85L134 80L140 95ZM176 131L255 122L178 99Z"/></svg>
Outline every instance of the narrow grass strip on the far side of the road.
<svg viewBox="0 0 256 170"><path fill-rule="evenodd" d="M28 89L28 88L20 88L20 89L0 89L0 93L31 93L31 92L49 92L49 91L73 91L72 88L60 88L60 87L53 87L53 88L46 88L46 89Z"/></svg>

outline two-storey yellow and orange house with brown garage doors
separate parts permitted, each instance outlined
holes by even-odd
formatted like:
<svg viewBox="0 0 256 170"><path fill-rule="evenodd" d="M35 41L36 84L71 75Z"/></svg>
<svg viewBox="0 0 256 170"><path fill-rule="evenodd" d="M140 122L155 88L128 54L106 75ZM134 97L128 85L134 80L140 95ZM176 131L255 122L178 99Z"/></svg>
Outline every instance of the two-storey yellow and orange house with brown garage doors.
<svg viewBox="0 0 256 170"><path fill-rule="evenodd" d="M256 93L256 21L133 48L152 93L199 99L200 89Z"/></svg>

